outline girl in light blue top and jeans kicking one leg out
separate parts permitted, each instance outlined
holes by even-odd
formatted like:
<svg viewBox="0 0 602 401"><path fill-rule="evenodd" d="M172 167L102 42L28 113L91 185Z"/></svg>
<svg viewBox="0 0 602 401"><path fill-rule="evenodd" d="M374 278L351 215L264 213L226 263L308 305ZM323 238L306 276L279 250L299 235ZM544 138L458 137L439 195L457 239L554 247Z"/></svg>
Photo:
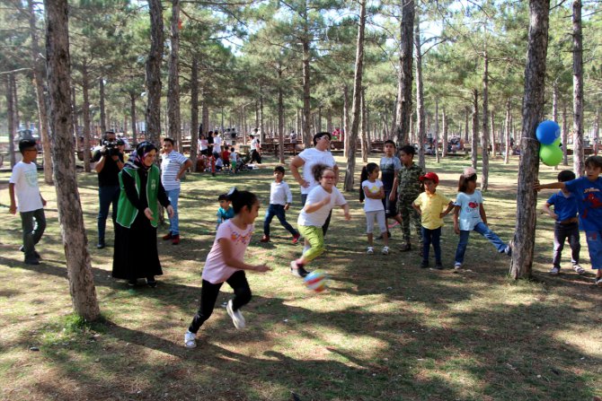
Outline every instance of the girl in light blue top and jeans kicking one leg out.
<svg viewBox="0 0 602 401"><path fill-rule="evenodd" d="M500 237L487 226L487 215L482 205L481 191L476 190L476 170L467 167L460 176L457 186L458 194L454 205L454 231L460 235L456 248L454 268L459 269L464 263L466 245L470 231L476 231L493 244L498 252L510 256L512 247L500 240Z"/></svg>

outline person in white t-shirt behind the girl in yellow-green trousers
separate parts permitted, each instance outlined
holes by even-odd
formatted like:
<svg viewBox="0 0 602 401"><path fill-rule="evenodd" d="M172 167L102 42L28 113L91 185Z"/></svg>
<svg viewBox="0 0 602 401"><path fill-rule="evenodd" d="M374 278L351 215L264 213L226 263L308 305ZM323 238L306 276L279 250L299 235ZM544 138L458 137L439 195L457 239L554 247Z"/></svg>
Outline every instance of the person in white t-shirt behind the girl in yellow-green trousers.
<svg viewBox="0 0 602 401"><path fill-rule="evenodd" d="M332 168L335 174L334 185L339 182L339 166L334 161L331 153L331 134L328 132L319 132L314 135L314 147L305 149L299 153L290 162L290 172L301 186L301 205L305 205L309 192L320 185L315 180L312 168L315 164L323 164ZM303 168L303 177L299 173L299 168ZM332 213L331 213L332 214ZM328 231L328 225L331 222L331 214L328 214L326 222L322 226L323 235Z"/></svg>

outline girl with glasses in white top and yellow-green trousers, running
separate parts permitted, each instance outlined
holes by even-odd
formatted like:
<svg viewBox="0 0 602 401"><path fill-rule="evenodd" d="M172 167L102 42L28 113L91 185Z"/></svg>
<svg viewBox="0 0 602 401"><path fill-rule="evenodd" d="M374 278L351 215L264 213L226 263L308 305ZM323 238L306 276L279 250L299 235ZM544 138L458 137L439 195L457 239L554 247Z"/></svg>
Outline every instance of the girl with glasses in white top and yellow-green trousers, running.
<svg viewBox="0 0 602 401"><path fill-rule="evenodd" d="M322 226L334 206L341 206L345 213L345 220L351 220L350 208L339 189L334 187L336 173L332 167L324 164L314 164L312 167L314 179L320 183L307 195L305 206L299 214L297 225L301 235L309 242L308 248L302 257L290 262L290 273L297 277L305 277L309 272L305 265L322 255L324 235Z"/></svg>

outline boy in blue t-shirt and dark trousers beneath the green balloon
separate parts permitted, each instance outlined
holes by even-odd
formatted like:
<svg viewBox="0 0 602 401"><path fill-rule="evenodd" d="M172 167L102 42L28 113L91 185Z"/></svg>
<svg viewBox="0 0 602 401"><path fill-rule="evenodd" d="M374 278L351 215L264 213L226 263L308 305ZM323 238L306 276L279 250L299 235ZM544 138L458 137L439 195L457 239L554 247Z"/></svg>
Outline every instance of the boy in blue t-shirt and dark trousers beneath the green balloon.
<svg viewBox="0 0 602 401"><path fill-rule="evenodd" d="M568 182L575 179L575 173L571 170L562 170L558 173L558 182ZM553 210L550 209L553 206ZM572 268L579 275L585 270L579 266L579 252L581 244L579 240L579 219L577 218L577 198L564 187L545 202L543 210L555 221L553 230L553 259L550 275L560 273L560 261L564 242L568 239L571 246Z"/></svg>

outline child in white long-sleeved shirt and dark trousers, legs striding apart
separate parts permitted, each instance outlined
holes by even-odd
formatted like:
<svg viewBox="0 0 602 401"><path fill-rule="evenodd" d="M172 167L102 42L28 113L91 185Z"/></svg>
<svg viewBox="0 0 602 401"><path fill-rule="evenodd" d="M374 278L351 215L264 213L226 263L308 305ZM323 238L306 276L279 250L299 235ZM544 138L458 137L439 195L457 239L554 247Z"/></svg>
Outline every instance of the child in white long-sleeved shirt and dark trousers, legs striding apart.
<svg viewBox="0 0 602 401"><path fill-rule="evenodd" d="M280 224L293 235L293 244L297 244L300 237L299 231L287 222L286 215L292 202L293 193L290 192L288 184L284 182L284 167L276 166L274 168L274 182L270 185L270 205L263 220L263 238L261 238L261 242L270 242L270 223L276 216Z"/></svg>

